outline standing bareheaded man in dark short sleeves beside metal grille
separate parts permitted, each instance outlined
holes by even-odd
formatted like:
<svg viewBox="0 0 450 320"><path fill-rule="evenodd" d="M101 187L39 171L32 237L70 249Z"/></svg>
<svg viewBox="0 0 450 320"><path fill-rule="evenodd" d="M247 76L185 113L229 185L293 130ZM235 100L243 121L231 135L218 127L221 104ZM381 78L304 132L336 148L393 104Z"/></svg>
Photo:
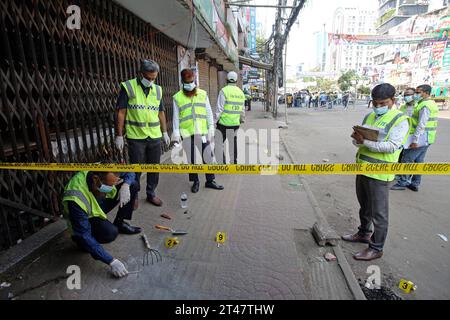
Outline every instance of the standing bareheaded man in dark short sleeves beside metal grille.
<svg viewBox="0 0 450 320"><path fill-rule="evenodd" d="M124 134L128 141L128 154L131 164L160 164L161 139L170 144L167 133L166 116L162 102L162 88L155 84L159 66L152 60L144 60L138 78L121 84L117 101L116 147L124 149ZM136 173L140 186L140 173ZM162 206L156 196L159 182L158 173L147 173L147 201Z"/></svg>

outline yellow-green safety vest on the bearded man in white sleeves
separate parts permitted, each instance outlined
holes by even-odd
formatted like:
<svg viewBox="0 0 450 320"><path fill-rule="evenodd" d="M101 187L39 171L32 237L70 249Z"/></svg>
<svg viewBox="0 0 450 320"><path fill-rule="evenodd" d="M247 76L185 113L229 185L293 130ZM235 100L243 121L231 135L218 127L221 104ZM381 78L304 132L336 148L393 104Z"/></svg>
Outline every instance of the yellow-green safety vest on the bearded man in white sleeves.
<svg viewBox="0 0 450 320"><path fill-rule="evenodd" d="M206 112L206 91L197 89L193 97L188 97L183 90L177 92L173 99L178 106L180 133L183 138L194 134L206 135L208 133L208 117Z"/></svg>

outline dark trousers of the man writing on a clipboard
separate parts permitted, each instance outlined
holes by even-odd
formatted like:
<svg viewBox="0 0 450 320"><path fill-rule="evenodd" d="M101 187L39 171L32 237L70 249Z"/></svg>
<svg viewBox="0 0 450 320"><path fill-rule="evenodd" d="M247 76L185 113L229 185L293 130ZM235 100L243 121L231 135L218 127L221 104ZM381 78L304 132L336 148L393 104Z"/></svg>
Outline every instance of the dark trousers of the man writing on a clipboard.
<svg viewBox="0 0 450 320"><path fill-rule="evenodd" d="M373 234L369 246L383 251L389 227L389 182L372 179L366 176L356 176L356 195L359 205L361 236Z"/></svg>

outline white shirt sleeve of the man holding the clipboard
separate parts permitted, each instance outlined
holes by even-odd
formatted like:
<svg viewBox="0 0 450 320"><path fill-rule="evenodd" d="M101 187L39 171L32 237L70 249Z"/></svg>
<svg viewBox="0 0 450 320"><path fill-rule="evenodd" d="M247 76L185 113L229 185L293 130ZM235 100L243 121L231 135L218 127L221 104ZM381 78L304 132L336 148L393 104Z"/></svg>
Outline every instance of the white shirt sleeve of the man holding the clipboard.
<svg viewBox="0 0 450 320"><path fill-rule="evenodd" d="M378 116L377 118L379 118ZM377 119L376 118L376 119ZM409 122L404 120L400 122L397 126L392 128L387 141L369 141L364 140L364 146L366 146L370 151L376 153L394 153L403 146L403 140L409 131ZM356 147L361 147L360 144L353 140L353 144Z"/></svg>

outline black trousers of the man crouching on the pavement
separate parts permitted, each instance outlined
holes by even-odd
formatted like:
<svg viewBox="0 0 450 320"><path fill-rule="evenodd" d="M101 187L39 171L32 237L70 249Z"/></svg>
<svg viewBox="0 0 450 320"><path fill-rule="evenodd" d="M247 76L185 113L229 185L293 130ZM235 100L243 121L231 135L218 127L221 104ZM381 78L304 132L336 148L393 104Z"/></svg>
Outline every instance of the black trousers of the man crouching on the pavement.
<svg viewBox="0 0 450 320"><path fill-rule="evenodd" d="M110 213L117 205L119 204L119 192L122 185L117 186L117 196L114 199L104 199L99 201L100 208L102 208L103 212L108 214ZM122 208L119 208L117 211L116 218L114 220L114 224L109 220L103 220L100 218L91 218L89 222L91 224L91 232L92 236L97 240L98 243L110 243L113 242L119 231L115 224L119 224L123 222L123 220L131 220L133 217L134 210L134 201L138 195L137 185L133 183L130 186L131 200Z"/></svg>

